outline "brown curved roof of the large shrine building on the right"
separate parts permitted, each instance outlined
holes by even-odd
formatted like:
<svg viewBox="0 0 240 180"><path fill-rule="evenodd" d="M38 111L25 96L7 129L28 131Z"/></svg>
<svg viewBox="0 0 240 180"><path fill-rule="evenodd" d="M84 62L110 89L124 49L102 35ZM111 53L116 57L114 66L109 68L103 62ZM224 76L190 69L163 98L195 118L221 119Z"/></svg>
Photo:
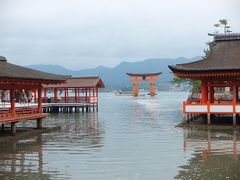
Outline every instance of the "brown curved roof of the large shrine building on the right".
<svg viewBox="0 0 240 180"><path fill-rule="evenodd" d="M215 35L206 58L169 66L174 73L240 72L240 34Z"/></svg>

